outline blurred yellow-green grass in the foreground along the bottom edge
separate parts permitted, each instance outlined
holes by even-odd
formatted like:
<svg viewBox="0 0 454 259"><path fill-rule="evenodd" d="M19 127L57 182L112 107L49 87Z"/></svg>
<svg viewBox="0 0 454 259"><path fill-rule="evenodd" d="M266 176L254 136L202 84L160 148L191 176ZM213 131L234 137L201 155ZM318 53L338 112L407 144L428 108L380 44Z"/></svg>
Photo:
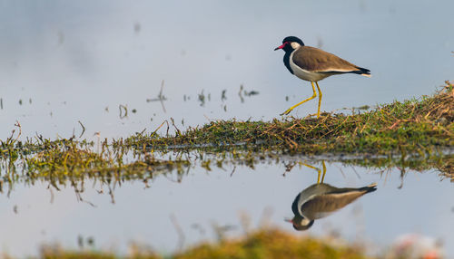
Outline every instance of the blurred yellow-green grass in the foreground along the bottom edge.
<svg viewBox="0 0 454 259"><path fill-rule="evenodd" d="M299 237L277 229L262 229L241 239L202 244L181 253L161 256L149 249L133 247L127 258L370 258L351 245L331 244L327 240ZM42 249L43 258L118 258L106 252L65 251L58 247Z"/></svg>

